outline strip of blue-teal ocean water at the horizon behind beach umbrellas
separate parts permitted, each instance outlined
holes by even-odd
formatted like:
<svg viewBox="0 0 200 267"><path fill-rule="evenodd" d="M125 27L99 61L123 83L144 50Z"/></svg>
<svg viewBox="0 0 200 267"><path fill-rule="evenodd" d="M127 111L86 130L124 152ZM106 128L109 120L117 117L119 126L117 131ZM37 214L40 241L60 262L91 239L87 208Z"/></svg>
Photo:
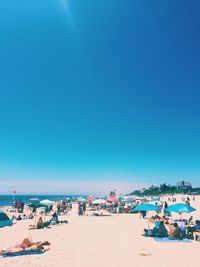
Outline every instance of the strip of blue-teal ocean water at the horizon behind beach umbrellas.
<svg viewBox="0 0 200 267"><path fill-rule="evenodd" d="M65 197L69 197L70 199L75 199L80 195L0 195L0 206L11 206L13 201L23 200L25 204L29 203L31 198L39 198L39 200L49 199L53 201L59 201L64 199ZM81 197L87 197L86 195L81 195Z"/></svg>

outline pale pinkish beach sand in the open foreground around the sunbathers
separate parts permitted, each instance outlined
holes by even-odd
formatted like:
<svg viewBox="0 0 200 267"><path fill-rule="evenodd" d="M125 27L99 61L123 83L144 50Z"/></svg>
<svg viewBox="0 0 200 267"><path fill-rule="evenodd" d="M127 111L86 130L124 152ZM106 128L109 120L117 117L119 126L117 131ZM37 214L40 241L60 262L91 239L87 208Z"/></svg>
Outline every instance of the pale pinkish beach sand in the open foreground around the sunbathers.
<svg viewBox="0 0 200 267"><path fill-rule="evenodd" d="M200 197L191 205L200 208ZM195 218L200 218L199 211ZM198 216L199 215L199 216ZM183 217L188 218L191 214ZM179 218L178 215L176 215ZM13 247L25 237L48 240L50 250L42 255L0 258L1 267L142 267L199 266L200 242L159 243L142 236L147 221L138 214L108 217L77 215L77 205L67 216L69 224L51 229L28 230L31 220L0 229L0 249ZM147 256L144 256L147 255Z"/></svg>

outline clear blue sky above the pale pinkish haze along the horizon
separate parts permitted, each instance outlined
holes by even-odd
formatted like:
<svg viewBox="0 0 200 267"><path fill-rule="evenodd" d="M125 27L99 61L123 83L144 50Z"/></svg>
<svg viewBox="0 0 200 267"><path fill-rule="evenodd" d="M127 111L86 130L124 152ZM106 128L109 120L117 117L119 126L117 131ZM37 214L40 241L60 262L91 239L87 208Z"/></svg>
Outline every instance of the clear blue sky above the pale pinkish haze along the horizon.
<svg viewBox="0 0 200 267"><path fill-rule="evenodd" d="M199 10L1 0L0 180L197 185Z"/></svg>

